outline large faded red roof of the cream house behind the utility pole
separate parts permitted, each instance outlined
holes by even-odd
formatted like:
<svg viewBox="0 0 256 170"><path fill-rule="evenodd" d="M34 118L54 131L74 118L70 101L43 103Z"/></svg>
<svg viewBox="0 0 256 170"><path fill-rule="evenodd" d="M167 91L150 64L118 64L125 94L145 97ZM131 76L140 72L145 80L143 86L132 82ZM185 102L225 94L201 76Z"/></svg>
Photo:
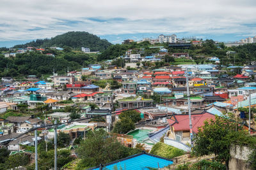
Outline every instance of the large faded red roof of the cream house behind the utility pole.
<svg viewBox="0 0 256 170"><path fill-rule="evenodd" d="M175 117L177 122L175 122ZM170 126L173 126L174 131L189 131L189 115L173 115L172 119L167 119ZM192 114L192 131L197 133L198 127L204 125L205 120L215 119L215 115L211 113Z"/></svg>

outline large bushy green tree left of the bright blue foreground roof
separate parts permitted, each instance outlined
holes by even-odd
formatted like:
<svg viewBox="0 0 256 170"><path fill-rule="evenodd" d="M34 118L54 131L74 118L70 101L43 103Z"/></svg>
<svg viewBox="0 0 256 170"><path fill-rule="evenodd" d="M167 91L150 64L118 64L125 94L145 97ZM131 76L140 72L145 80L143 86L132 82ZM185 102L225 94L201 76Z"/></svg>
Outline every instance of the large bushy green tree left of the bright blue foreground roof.
<svg viewBox="0 0 256 170"><path fill-rule="evenodd" d="M126 148L116 138L109 136L104 129L99 129L88 132L87 138L77 148L77 153L82 159L80 166L88 168L122 159L140 151Z"/></svg>

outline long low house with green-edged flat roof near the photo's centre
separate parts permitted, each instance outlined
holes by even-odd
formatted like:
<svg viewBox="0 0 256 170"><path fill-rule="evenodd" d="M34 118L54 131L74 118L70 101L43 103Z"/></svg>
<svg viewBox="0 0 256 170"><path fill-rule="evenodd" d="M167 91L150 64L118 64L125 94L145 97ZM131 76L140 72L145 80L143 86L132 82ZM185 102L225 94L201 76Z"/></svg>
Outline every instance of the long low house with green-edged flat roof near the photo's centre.
<svg viewBox="0 0 256 170"><path fill-rule="evenodd" d="M152 107L153 99L134 98L134 99L120 99L118 100L118 108L132 109L138 107Z"/></svg>

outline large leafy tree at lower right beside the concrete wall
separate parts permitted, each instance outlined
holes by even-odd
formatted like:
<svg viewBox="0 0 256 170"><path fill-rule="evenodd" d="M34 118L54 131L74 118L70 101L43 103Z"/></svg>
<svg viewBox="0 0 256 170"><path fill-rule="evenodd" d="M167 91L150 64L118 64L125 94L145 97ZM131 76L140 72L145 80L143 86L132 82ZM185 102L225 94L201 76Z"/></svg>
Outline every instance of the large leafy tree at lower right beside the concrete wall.
<svg viewBox="0 0 256 170"><path fill-rule="evenodd" d="M239 126L237 128L241 129ZM233 132L236 132L236 122L228 118L216 117L215 120L205 121L204 126L198 129L198 134L194 139L196 155L214 153L216 159L225 162L228 169Z"/></svg>

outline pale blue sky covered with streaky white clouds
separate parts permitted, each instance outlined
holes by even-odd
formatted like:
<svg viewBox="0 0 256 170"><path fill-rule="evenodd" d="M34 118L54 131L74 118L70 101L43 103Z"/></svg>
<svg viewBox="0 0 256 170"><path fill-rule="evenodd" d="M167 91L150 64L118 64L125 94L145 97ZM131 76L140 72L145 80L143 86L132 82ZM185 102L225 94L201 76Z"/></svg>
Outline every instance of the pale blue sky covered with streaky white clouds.
<svg viewBox="0 0 256 170"><path fill-rule="evenodd" d="M256 36L255 0L1 0L0 46L86 31L111 43L178 38L236 41Z"/></svg>

